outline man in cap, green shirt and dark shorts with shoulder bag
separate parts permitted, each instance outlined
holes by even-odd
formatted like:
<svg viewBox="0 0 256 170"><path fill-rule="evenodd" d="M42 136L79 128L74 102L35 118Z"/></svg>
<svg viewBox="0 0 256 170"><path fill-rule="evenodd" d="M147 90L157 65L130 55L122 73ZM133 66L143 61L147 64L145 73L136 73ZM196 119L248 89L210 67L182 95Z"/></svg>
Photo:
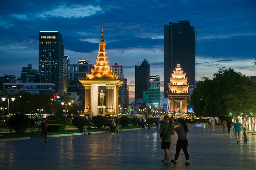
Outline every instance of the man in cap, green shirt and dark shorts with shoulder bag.
<svg viewBox="0 0 256 170"><path fill-rule="evenodd" d="M166 134L165 139L163 139L161 143L161 149L165 150L165 158L162 159L162 163L165 164L166 166L171 166L169 148L171 146L171 137L172 135L174 135L175 131L173 124L169 123L169 116L165 116L163 118L163 123L160 126L159 133Z"/></svg>

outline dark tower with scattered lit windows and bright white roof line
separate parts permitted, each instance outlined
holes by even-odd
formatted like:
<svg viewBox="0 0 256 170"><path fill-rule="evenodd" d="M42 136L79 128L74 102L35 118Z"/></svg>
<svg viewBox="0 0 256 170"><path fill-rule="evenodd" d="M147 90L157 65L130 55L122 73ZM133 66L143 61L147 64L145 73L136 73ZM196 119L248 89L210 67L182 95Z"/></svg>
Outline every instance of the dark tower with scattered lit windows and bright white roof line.
<svg viewBox="0 0 256 170"><path fill-rule="evenodd" d="M58 31L39 32L39 82L54 83L55 92L64 95L64 44Z"/></svg>

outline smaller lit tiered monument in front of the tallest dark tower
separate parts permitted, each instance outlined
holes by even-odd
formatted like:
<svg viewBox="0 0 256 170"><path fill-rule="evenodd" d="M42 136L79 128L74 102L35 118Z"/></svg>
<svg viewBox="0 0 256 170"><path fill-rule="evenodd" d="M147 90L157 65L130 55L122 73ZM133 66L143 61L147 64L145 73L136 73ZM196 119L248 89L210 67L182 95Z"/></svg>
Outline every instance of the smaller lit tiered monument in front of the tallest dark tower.
<svg viewBox="0 0 256 170"><path fill-rule="evenodd" d="M187 101L190 95L189 83L187 83L186 73L183 72L180 64L177 64L175 70L173 70L168 86L167 96L170 101L170 111L187 113Z"/></svg>

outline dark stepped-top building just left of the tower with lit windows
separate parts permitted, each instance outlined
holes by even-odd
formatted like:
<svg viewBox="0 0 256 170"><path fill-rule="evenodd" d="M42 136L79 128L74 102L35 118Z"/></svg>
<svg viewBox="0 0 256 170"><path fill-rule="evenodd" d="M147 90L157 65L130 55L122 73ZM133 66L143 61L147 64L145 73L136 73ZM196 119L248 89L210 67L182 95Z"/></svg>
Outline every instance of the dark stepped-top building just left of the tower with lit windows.
<svg viewBox="0 0 256 170"><path fill-rule="evenodd" d="M32 64L28 67L22 67L21 72L22 83L38 83L38 70L32 69Z"/></svg>

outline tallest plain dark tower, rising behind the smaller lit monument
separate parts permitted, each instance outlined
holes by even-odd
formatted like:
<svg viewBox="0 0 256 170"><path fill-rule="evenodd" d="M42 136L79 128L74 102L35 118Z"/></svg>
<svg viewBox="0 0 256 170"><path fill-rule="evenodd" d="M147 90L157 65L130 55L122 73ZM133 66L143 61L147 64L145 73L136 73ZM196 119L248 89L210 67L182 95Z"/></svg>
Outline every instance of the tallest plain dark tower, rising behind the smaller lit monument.
<svg viewBox="0 0 256 170"><path fill-rule="evenodd" d="M164 97L169 91L168 83L177 63L182 65L188 83L195 84L195 29L189 21L170 22L164 25Z"/></svg>

